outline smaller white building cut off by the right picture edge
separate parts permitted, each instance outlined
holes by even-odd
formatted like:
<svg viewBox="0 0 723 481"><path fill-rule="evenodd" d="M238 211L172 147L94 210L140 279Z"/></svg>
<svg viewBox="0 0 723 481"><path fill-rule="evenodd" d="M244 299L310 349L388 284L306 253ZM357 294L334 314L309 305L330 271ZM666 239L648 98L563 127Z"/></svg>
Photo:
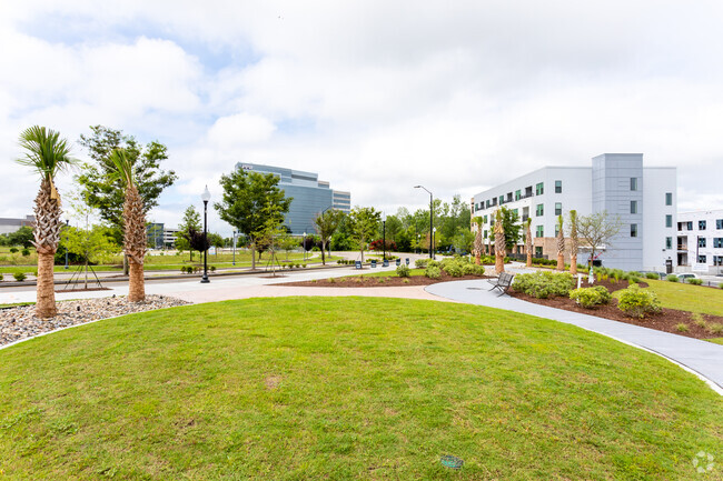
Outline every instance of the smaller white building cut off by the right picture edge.
<svg viewBox="0 0 723 481"><path fill-rule="evenodd" d="M675 247L680 271L723 273L723 209L680 212Z"/></svg>

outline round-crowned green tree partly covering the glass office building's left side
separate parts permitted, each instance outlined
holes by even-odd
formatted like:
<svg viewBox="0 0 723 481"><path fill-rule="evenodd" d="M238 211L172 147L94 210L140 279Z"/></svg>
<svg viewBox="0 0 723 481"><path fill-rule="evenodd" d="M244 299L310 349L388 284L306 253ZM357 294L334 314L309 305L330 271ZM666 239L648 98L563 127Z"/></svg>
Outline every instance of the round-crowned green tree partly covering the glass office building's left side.
<svg viewBox="0 0 723 481"><path fill-rule="evenodd" d="M214 204L219 217L251 242L251 269L256 269L256 245L259 233L270 223L280 226L289 211L291 198L278 188L279 179L273 173L249 172L235 169L221 176L224 197Z"/></svg>

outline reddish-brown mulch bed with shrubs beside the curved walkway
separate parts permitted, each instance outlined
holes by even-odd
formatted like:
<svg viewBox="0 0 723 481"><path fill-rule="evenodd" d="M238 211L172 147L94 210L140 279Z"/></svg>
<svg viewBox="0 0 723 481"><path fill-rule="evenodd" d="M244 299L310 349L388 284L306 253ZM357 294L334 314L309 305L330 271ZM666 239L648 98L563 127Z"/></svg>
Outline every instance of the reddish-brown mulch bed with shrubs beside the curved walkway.
<svg viewBox="0 0 723 481"><path fill-rule="evenodd" d="M620 281L616 283L610 281L595 282L594 285L604 285L608 291L614 292L620 289L625 289L628 283L627 281ZM583 280L583 288L587 288L587 281ZM640 282L641 288L646 288L645 282ZM565 309L567 311L580 312L583 314L596 315L598 318L611 319L613 321L626 322L628 324L642 325L644 328L656 329L658 331L671 332L673 334L686 335L689 338L695 339L711 339L720 338L721 334L713 334L694 323L692 313L687 311L679 311L675 309L663 309L657 314L652 314L645 317L645 319L635 319L627 317L623 311L617 309L617 299L612 299L607 305L597 305L593 309L585 309L578 305L574 300L570 298L551 298L551 299L537 299L532 295L524 294L522 292L516 292L514 290L508 291L509 295L513 298L522 299L527 302L533 302L535 304L548 305L556 309ZM710 315L703 314L703 319L709 323L723 323L723 317L720 315ZM681 332L677 330L677 324L685 323L689 328L687 332Z"/></svg>

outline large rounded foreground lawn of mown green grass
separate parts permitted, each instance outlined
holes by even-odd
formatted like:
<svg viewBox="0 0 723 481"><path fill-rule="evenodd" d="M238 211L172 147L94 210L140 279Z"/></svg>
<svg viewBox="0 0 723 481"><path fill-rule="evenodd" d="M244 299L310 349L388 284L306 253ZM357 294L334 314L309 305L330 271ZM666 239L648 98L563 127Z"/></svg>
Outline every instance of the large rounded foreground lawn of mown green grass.
<svg viewBox="0 0 723 481"><path fill-rule="evenodd" d="M664 359L429 301L110 319L0 351L0 392L9 480L674 480L723 455L722 398Z"/></svg>

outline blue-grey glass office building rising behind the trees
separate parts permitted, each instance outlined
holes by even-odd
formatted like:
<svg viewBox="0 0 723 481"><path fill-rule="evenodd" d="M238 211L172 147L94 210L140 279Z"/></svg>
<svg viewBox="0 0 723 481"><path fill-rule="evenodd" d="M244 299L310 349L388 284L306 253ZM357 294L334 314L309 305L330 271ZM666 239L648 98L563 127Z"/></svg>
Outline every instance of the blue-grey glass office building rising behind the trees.
<svg viewBox="0 0 723 481"><path fill-rule="evenodd" d="M315 216L327 209L337 209L347 213L351 210L351 194L331 190L329 182L319 180L317 173L247 162L239 162L236 168L273 173L279 178L278 187L284 190L284 194L294 198L284 224L295 236L314 232Z"/></svg>

